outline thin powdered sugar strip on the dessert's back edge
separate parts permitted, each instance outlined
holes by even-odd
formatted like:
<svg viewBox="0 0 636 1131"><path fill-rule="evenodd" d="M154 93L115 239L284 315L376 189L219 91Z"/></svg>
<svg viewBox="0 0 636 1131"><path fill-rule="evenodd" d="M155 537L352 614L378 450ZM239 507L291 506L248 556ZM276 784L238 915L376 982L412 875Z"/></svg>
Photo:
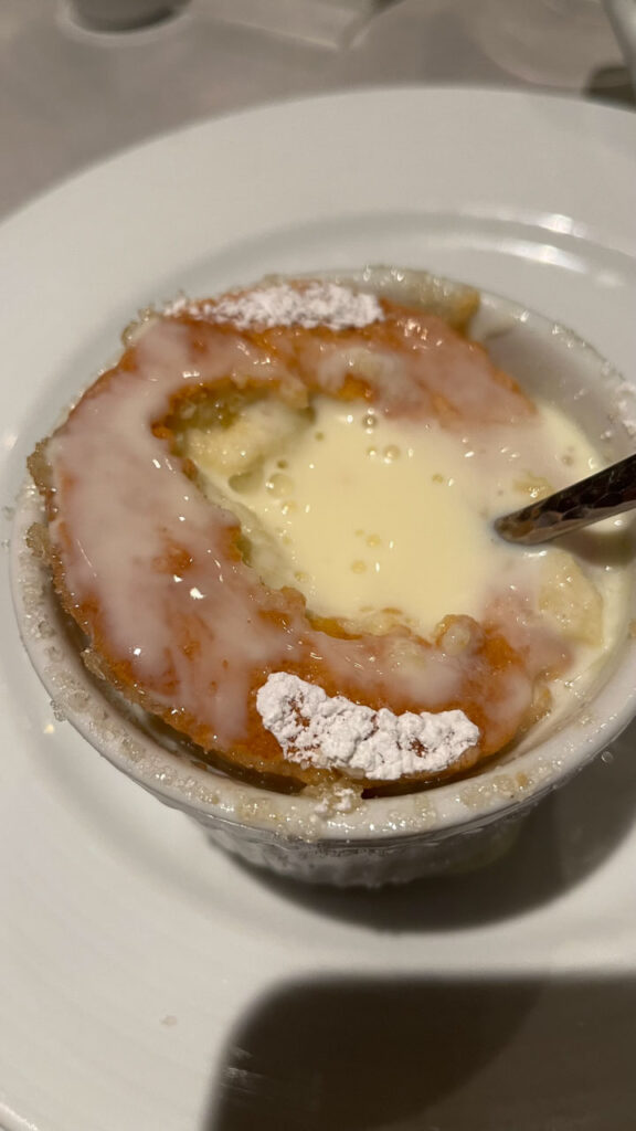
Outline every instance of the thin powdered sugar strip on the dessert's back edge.
<svg viewBox="0 0 636 1131"><path fill-rule="evenodd" d="M275 283L225 295L218 302L178 299L165 308L165 313L232 322L240 330L252 326L302 326L306 329L326 326L343 330L370 326L384 319L383 308L375 294L327 282L311 282L306 286Z"/></svg>

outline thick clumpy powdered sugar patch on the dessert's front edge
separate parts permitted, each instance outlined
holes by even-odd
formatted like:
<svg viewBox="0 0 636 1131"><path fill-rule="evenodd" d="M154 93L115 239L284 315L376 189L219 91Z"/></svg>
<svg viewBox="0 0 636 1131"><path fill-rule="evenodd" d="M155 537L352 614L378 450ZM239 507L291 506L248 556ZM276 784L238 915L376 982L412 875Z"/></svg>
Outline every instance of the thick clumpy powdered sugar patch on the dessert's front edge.
<svg viewBox="0 0 636 1131"><path fill-rule="evenodd" d="M274 672L259 688L265 727L290 761L343 770L350 777L395 782L439 774L479 740L479 728L461 710L372 710L287 672Z"/></svg>

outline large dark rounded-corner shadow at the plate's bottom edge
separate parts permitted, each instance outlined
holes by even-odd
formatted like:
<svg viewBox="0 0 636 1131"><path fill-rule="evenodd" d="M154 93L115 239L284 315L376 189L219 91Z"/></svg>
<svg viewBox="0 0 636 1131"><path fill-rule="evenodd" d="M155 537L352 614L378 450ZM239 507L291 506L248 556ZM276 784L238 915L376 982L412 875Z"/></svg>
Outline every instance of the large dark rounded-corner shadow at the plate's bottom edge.
<svg viewBox="0 0 636 1131"><path fill-rule="evenodd" d="M231 1035L200 1131L629 1131L636 981L328 978Z"/></svg>

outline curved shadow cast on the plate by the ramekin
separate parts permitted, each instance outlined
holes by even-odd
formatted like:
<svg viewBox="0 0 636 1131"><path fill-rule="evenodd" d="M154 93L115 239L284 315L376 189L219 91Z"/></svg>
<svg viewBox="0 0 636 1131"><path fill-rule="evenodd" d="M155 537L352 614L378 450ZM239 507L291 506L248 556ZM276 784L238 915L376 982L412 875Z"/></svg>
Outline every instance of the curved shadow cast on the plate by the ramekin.
<svg viewBox="0 0 636 1131"><path fill-rule="evenodd" d="M446 931L550 903L617 849L636 817L636 724L522 824L505 856L479 871L380 890L312 887L237 863L283 898L386 931ZM636 1126L636 1123L634 1124Z"/></svg>

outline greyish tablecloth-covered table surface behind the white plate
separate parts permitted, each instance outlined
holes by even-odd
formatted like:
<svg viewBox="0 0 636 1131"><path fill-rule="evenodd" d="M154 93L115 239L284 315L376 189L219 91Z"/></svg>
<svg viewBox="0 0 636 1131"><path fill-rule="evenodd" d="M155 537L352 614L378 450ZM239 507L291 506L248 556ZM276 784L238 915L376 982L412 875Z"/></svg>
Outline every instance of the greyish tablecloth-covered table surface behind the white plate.
<svg viewBox="0 0 636 1131"><path fill-rule="evenodd" d="M413 83L631 93L594 0L190 0L153 27L109 34L80 26L68 0L3 0L0 217L201 118Z"/></svg>

